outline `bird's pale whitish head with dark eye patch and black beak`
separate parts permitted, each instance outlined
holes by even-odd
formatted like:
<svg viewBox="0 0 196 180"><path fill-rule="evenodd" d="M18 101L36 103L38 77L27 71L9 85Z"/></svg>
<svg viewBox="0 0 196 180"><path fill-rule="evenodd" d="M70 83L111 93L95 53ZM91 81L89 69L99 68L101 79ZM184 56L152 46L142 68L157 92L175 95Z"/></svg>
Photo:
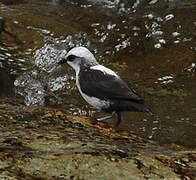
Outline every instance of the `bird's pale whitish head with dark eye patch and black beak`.
<svg viewBox="0 0 196 180"><path fill-rule="evenodd" d="M69 64L76 72L82 65L97 65L94 55L85 47L75 47L71 49L58 64Z"/></svg>

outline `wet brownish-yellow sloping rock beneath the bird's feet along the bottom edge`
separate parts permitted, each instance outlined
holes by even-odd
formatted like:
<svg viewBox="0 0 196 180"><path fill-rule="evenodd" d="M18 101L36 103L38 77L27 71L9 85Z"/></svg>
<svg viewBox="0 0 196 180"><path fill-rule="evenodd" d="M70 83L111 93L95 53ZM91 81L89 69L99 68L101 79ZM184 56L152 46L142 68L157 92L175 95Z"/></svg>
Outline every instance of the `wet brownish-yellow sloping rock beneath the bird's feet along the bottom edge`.
<svg viewBox="0 0 196 180"><path fill-rule="evenodd" d="M0 102L2 179L194 179L194 150L14 101Z"/></svg>

